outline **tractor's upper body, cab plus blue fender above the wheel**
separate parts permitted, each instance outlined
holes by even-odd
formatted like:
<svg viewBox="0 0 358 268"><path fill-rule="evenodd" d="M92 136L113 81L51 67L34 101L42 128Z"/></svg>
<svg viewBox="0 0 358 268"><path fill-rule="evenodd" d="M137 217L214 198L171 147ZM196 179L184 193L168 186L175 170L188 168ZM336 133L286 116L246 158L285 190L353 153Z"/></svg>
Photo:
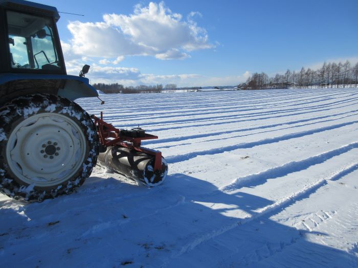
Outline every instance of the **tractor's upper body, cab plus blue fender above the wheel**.
<svg viewBox="0 0 358 268"><path fill-rule="evenodd" d="M34 93L71 101L98 96L84 78L88 65L80 76L67 75L56 27L59 18L55 7L0 0L0 107Z"/></svg>

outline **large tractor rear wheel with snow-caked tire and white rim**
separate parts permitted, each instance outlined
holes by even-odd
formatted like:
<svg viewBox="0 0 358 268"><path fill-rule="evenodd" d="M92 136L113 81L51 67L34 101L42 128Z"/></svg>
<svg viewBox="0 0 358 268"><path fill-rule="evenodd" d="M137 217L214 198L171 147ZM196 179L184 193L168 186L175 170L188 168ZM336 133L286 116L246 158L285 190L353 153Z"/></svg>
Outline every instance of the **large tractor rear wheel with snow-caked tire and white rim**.
<svg viewBox="0 0 358 268"><path fill-rule="evenodd" d="M14 99L0 109L0 191L25 201L71 193L91 175L98 144L76 103L50 94Z"/></svg>

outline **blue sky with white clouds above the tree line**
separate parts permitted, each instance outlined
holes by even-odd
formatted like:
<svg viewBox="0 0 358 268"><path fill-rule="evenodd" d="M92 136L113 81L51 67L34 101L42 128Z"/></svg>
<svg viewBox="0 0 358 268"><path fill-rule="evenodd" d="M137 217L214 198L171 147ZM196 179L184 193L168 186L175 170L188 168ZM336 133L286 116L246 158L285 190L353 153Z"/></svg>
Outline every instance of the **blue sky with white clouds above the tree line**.
<svg viewBox="0 0 358 268"><path fill-rule="evenodd" d="M59 11L68 72L92 82L236 85L250 72L358 61L357 0L37 0Z"/></svg>

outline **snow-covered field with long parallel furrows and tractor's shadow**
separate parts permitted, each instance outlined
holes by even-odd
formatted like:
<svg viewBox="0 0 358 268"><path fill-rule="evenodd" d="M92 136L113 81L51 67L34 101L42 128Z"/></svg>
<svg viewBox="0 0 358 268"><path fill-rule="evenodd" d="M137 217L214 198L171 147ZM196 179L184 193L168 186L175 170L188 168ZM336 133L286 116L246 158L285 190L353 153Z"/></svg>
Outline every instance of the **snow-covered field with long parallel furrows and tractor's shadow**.
<svg viewBox="0 0 358 268"><path fill-rule="evenodd" d="M0 196L2 267L358 267L358 89L101 98L79 103L158 135L167 180Z"/></svg>

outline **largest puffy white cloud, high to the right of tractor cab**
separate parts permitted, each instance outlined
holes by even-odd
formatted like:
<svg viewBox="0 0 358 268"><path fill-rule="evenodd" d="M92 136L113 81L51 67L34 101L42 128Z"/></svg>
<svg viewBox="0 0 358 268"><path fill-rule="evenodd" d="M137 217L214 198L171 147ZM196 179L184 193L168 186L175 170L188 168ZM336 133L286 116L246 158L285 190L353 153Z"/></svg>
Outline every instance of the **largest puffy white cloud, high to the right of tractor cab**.
<svg viewBox="0 0 358 268"><path fill-rule="evenodd" d="M188 58L186 52L213 47L204 28L198 27L191 12L187 20L165 6L149 3L137 5L133 14L105 14L101 22L72 21L68 29L73 35L65 44L65 53L115 58L143 55L158 59ZM70 47L69 47L70 45ZM105 62L105 61L103 61Z"/></svg>

